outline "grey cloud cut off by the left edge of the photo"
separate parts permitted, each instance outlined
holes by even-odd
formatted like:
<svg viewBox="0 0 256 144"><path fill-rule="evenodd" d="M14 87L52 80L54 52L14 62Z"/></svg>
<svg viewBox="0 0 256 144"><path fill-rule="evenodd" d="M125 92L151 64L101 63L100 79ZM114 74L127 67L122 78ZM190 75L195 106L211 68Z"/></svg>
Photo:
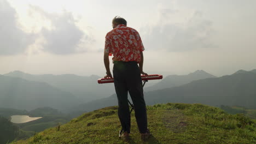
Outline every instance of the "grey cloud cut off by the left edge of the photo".
<svg viewBox="0 0 256 144"><path fill-rule="evenodd" d="M36 35L28 34L19 28L16 11L5 0L0 0L0 55L22 53L34 42Z"/></svg>

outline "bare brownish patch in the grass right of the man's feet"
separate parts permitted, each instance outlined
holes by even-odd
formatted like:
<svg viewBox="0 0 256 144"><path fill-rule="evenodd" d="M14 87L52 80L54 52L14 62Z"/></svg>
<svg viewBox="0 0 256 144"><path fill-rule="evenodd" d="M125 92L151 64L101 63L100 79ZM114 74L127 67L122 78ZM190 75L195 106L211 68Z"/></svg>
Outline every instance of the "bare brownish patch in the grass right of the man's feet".
<svg viewBox="0 0 256 144"><path fill-rule="evenodd" d="M166 128L173 131L173 133L181 133L185 131L188 123L181 110L168 110L164 112L162 121L166 124Z"/></svg>

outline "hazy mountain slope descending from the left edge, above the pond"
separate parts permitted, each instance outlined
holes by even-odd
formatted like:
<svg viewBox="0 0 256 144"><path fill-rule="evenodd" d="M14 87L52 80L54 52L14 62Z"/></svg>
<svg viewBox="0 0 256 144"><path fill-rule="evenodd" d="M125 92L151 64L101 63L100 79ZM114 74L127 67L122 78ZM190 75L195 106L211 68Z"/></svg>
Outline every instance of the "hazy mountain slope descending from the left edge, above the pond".
<svg viewBox="0 0 256 144"><path fill-rule="evenodd" d="M71 93L61 91L45 82L36 82L0 75L0 106L19 110L53 107L66 110L79 104Z"/></svg>

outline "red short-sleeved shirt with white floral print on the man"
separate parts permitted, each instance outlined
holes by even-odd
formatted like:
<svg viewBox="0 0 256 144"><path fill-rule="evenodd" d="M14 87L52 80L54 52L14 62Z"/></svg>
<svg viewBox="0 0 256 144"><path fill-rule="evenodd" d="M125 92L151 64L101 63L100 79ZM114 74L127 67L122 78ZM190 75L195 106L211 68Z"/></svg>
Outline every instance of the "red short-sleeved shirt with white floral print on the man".
<svg viewBox="0 0 256 144"><path fill-rule="evenodd" d="M141 61L140 52L144 51L144 46L139 37L139 33L131 28L121 24L108 32L106 35L104 53L113 54L114 61Z"/></svg>

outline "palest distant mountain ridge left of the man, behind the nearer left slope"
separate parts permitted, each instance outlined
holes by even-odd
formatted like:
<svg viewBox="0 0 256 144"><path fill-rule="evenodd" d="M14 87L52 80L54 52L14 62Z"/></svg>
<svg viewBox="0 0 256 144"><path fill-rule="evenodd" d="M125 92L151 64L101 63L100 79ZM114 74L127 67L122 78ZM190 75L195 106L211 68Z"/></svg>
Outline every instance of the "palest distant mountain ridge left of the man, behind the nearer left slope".
<svg viewBox="0 0 256 144"><path fill-rule="evenodd" d="M23 73L22 71L13 71L5 74L5 76L20 77L29 81L48 83L50 86L59 88L62 91L71 92L84 103L91 100L106 98L114 93L113 83L108 85L98 85L97 80L100 76L97 75L32 75ZM98 91L98 89L101 89L101 91Z"/></svg>

